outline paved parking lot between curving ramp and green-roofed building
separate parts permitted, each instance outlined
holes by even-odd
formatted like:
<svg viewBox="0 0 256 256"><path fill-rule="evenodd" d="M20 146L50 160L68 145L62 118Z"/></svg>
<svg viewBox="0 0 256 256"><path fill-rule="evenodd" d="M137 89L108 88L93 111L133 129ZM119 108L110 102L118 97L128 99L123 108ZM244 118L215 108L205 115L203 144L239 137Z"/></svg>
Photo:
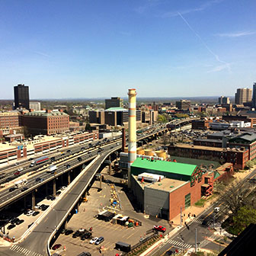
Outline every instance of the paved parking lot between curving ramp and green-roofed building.
<svg viewBox="0 0 256 256"><path fill-rule="evenodd" d="M110 181L119 182L120 178L114 178L107 175L107 170L104 171L104 178ZM78 255L82 251L88 251L91 255L114 255L118 251L114 249L116 242L126 242L130 245L135 245L139 242L140 238L146 237L146 232L154 225L165 226L169 232L171 228L168 226L168 222L163 219L157 218L147 218L143 213L136 213L133 210L133 206L126 196L126 192L123 191L123 187L116 185L116 190L118 197L120 198L121 210L113 210L115 213L120 213L123 216L129 216L130 219L136 219L142 222L142 226L133 226L128 228L127 226L121 226L119 224L113 224L110 222L105 222L104 220L96 219L98 213L102 210L107 209L110 206L111 190L113 192L113 185L102 183L102 190L98 190L100 186L100 181L95 181L91 189L89 190L90 195L88 196L88 202L82 203L79 206L77 214L72 216L70 219L67 229L72 229L73 233L78 229L89 229L92 227L93 237L104 237L104 242L100 245L90 244L91 238L87 238L82 241L81 237L72 238L70 235L59 235L56 239L54 245L62 245L56 250L61 255ZM66 251L63 251L63 248ZM100 248L102 248L100 252Z"/></svg>

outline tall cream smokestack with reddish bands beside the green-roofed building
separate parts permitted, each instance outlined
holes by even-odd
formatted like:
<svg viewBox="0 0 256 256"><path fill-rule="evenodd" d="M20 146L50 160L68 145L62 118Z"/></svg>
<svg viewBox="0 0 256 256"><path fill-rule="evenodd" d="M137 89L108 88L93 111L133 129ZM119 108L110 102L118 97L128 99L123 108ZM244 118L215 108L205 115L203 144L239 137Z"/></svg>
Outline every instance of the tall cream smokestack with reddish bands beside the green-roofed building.
<svg viewBox="0 0 256 256"><path fill-rule="evenodd" d="M136 89L129 89L129 144L128 144L128 187L130 188L130 166L136 159Z"/></svg>

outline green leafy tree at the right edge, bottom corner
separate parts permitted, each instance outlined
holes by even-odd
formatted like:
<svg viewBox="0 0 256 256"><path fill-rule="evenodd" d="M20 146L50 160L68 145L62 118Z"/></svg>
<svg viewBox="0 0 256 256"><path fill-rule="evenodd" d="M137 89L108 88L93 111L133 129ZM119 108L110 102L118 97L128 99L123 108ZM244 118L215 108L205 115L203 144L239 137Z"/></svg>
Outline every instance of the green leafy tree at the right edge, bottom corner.
<svg viewBox="0 0 256 256"><path fill-rule="evenodd" d="M235 231L240 233L251 223L256 224L256 210L252 206L242 206L233 221Z"/></svg>

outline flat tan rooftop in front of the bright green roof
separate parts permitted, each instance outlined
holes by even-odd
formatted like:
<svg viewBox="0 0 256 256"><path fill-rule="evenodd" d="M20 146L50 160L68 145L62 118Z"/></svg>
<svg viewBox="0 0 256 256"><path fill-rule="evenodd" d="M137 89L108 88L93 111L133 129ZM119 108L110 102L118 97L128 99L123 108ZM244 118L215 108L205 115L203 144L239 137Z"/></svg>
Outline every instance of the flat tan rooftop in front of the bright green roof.
<svg viewBox="0 0 256 256"><path fill-rule="evenodd" d="M178 181L171 178L164 178L162 181L156 181L156 182L146 182L146 181L139 181L138 176L134 176L136 178L136 181L140 184L142 188L144 187L150 187L152 189L156 190L164 190L167 192L172 192L173 190L176 190L178 187L184 186L184 184L187 184L187 182L190 181Z"/></svg>

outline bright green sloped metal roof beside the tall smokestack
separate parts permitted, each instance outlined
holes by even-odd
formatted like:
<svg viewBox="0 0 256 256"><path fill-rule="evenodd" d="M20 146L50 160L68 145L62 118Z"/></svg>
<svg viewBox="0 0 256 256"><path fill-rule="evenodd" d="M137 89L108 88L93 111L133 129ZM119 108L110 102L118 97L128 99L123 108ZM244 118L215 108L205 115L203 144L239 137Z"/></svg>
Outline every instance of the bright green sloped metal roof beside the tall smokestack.
<svg viewBox="0 0 256 256"><path fill-rule="evenodd" d="M133 165L131 166L136 168L151 169L155 171L166 171L174 174L183 174L188 176L191 176L194 169L197 168L197 165L187 165L178 162L166 162L160 160L150 161L146 158L136 158L136 160L133 162Z"/></svg>

